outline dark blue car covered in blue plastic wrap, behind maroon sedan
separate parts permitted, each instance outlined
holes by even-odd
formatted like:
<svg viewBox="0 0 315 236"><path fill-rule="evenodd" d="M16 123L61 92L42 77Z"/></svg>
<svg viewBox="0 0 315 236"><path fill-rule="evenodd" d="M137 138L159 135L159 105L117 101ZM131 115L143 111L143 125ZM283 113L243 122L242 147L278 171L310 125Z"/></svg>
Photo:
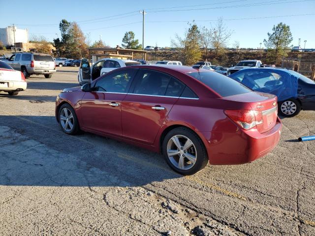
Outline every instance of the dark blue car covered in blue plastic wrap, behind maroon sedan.
<svg viewBox="0 0 315 236"><path fill-rule="evenodd" d="M301 110L315 110L315 82L288 69L252 68L229 76L248 88L278 96L279 113L294 117Z"/></svg>

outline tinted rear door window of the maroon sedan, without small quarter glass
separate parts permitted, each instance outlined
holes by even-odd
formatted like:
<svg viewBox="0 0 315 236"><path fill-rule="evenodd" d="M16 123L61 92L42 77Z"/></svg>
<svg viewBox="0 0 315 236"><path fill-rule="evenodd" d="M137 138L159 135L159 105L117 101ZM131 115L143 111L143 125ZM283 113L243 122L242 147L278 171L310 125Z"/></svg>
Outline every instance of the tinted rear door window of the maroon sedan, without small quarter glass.
<svg viewBox="0 0 315 236"><path fill-rule="evenodd" d="M157 71L140 70L133 93L164 96L170 79L170 76Z"/></svg>

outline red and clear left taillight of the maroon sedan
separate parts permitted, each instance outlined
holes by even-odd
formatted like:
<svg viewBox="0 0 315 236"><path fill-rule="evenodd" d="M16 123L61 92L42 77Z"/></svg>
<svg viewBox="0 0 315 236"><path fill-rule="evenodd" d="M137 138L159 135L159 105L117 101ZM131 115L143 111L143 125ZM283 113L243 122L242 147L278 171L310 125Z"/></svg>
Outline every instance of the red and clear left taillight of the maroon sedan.
<svg viewBox="0 0 315 236"><path fill-rule="evenodd" d="M243 129L251 129L263 123L262 113L254 110L225 110L225 115Z"/></svg>

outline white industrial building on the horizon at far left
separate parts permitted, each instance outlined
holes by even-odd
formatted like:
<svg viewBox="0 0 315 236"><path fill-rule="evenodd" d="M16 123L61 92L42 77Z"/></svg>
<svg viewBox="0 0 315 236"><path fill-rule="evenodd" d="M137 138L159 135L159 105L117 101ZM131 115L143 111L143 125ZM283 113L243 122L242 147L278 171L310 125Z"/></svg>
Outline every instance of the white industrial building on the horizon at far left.
<svg viewBox="0 0 315 236"><path fill-rule="evenodd" d="M29 41L28 29L17 29L16 27L13 26L8 26L7 28L0 28L0 41L5 46L14 45L14 34L15 43L27 43Z"/></svg>

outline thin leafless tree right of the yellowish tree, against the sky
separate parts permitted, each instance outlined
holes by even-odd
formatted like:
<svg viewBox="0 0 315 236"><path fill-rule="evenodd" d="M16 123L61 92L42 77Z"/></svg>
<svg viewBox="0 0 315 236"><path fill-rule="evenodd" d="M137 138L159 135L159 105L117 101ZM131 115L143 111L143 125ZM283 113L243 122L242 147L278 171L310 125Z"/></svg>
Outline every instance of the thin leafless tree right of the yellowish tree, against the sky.
<svg viewBox="0 0 315 236"><path fill-rule="evenodd" d="M218 56L228 43L229 38L232 35L232 31L227 29L223 19L219 18L216 25L211 28L213 31L213 40L212 40L212 47L215 50L215 56Z"/></svg>

